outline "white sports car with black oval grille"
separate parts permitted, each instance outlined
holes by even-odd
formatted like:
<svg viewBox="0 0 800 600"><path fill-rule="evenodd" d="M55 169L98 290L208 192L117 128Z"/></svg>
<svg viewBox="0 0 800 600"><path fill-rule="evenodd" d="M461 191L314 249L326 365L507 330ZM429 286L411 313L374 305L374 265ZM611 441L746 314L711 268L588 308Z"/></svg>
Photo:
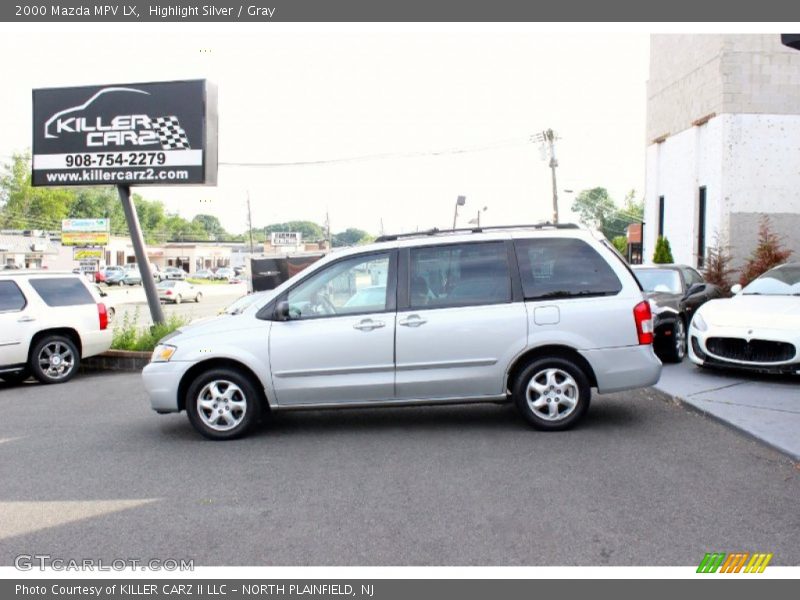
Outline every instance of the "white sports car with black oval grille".
<svg viewBox="0 0 800 600"><path fill-rule="evenodd" d="M702 367L800 373L800 263L770 269L736 295L701 306L689 358Z"/></svg>

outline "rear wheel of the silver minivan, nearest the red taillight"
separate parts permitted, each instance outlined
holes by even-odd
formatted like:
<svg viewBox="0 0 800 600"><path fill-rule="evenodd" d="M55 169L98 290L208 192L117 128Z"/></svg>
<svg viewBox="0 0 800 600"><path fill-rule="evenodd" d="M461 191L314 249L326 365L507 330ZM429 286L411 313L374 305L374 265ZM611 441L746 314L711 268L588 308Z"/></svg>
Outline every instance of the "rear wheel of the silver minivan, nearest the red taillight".
<svg viewBox="0 0 800 600"><path fill-rule="evenodd" d="M541 358L517 376L511 397L528 423L543 431L573 427L589 409L592 390L583 369L566 358Z"/></svg>

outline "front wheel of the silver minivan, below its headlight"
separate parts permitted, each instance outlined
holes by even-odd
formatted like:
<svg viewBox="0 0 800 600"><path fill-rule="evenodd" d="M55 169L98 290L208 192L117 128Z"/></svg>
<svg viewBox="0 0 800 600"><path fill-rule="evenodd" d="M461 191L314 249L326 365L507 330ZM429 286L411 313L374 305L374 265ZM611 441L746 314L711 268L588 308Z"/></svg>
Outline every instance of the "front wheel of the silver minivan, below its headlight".
<svg viewBox="0 0 800 600"><path fill-rule="evenodd" d="M186 391L189 422L211 440L242 437L258 422L262 408L258 387L236 369L204 371Z"/></svg>

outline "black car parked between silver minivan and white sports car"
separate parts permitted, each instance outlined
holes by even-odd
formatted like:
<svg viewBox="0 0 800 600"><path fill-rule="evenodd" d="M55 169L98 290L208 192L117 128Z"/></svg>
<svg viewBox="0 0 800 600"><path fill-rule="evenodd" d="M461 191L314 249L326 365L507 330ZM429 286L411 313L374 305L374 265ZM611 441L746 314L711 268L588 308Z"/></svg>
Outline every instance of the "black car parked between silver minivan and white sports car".
<svg viewBox="0 0 800 600"><path fill-rule="evenodd" d="M656 354L664 362L681 362L686 356L686 330L694 311L709 300L721 298L722 290L706 283L687 265L632 268L653 311Z"/></svg>

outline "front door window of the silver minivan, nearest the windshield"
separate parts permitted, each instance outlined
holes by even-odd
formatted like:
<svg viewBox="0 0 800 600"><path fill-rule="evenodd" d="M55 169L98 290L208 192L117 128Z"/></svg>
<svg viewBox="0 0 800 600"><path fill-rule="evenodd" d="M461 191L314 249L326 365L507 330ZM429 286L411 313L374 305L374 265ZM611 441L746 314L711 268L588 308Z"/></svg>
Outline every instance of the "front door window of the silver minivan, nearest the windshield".
<svg viewBox="0 0 800 600"><path fill-rule="evenodd" d="M311 275L287 295L293 319L386 310L389 254L337 262Z"/></svg>

